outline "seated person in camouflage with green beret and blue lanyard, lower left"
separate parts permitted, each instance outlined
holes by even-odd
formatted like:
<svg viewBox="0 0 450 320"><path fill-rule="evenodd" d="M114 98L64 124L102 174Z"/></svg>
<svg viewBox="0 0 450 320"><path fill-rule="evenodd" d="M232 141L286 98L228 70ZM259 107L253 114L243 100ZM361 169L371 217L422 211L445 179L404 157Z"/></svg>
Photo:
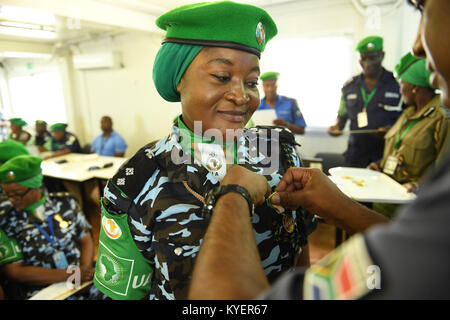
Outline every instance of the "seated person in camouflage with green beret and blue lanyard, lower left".
<svg viewBox="0 0 450 320"><path fill-rule="evenodd" d="M0 229L10 240L2 271L9 285L27 299L52 283L66 281L69 265L80 267L81 281L93 276L90 225L67 193L43 192L42 159L21 155L0 167L0 182L11 202L0 211ZM2 237L4 237L2 234ZM13 239L13 240L12 240Z"/></svg>

